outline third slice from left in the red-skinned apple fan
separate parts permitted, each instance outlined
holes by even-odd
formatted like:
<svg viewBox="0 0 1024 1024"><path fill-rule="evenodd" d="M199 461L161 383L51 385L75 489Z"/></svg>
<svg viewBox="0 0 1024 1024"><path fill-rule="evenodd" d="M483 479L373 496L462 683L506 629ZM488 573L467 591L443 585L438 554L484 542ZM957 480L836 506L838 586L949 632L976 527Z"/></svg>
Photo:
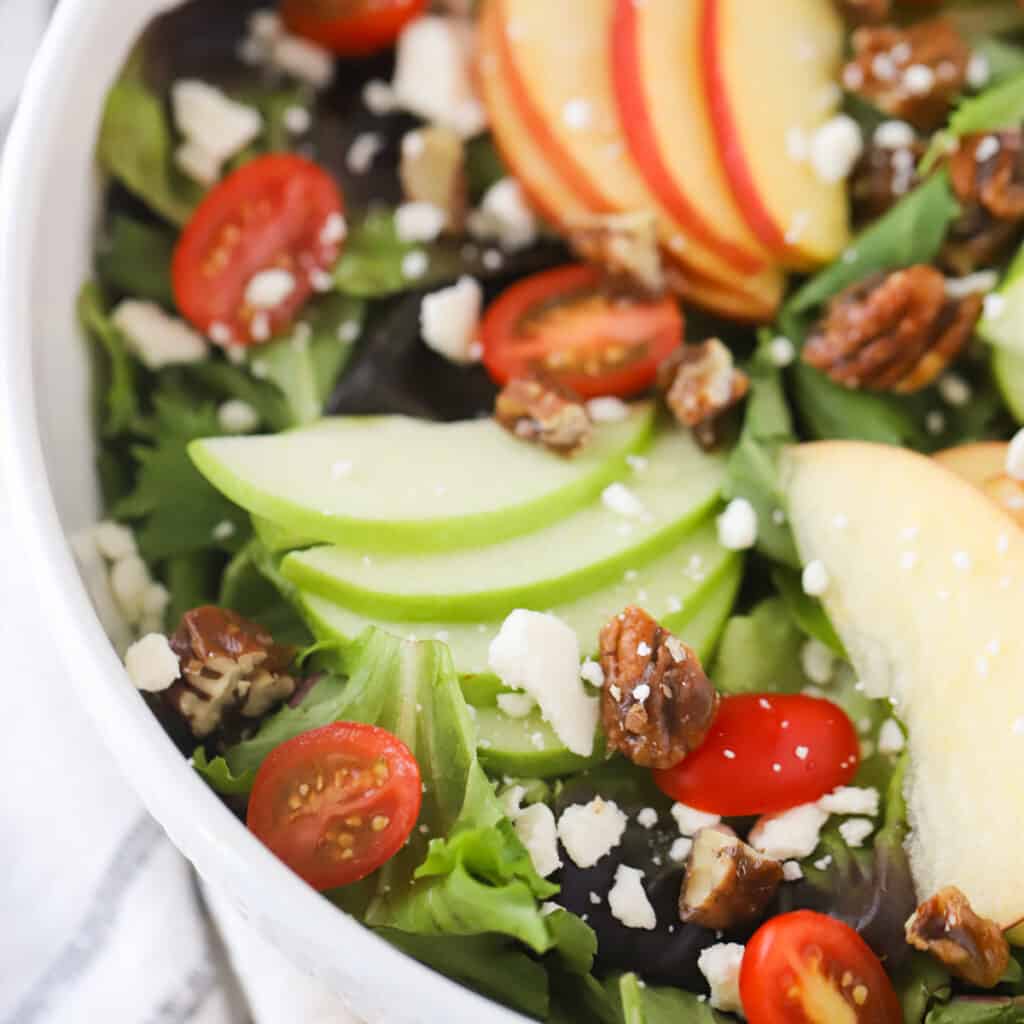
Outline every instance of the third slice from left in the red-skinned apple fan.
<svg viewBox="0 0 1024 1024"><path fill-rule="evenodd" d="M743 220L718 156L700 80L700 0L615 0L615 98L648 187L688 234L731 266L770 261Z"/></svg>

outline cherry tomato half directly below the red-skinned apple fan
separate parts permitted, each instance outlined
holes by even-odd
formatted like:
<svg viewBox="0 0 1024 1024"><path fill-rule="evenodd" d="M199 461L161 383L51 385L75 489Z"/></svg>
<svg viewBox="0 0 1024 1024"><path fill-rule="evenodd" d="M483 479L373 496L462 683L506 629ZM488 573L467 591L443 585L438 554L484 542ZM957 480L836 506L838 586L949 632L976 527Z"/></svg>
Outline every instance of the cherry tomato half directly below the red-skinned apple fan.
<svg viewBox="0 0 1024 1024"><path fill-rule="evenodd" d="M628 395L654 380L683 340L669 297L615 288L593 267L536 273L504 292L480 328L483 365L505 384L544 376L585 398Z"/></svg>

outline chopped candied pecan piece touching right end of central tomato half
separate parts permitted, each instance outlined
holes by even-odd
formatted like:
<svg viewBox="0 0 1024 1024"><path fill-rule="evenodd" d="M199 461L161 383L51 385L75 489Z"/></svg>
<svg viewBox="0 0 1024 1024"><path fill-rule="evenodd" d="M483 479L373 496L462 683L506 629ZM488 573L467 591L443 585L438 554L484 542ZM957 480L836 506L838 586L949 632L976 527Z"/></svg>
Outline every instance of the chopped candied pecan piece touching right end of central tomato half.
<svg viewBox="0 0 1024 1024"><path fill-rule="evenodd" d="M751 386L718 338L681 345L662 364L657 378L666 404L706 449L718 442L722 414L741 401Z"/></svg>

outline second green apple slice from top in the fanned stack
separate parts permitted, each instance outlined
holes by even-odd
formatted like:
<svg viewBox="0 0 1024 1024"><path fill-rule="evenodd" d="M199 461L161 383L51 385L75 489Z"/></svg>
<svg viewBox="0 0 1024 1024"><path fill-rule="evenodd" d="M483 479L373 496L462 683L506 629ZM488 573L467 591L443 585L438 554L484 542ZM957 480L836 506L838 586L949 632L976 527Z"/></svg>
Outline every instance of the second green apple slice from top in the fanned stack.
<svg viewBox="0 0 1024 1024"><path fill-rule="evenodd" d="M479 622L513 608L564 603L639 571L718 501L725 461L701 452L688 431L659 434L644 459L641 469L622 477L642 515L624 517L596 501L544 529L485 548L373 556L312 548L286 557L282 573L367 615L400 621Z"/></svg>

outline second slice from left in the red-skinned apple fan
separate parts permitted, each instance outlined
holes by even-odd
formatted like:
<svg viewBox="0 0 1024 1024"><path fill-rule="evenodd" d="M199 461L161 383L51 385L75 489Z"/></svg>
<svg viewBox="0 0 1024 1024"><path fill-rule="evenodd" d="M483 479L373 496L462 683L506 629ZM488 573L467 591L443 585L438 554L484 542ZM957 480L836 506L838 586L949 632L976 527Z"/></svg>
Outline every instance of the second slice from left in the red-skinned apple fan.
<svg viewBox="0 0 1024 1024"><path fill-rule="evenodd" d="M693 238L633 163L615 101L614 0L497 0L510 93L552 166L595 213L657 215L658 238L688 274L739 292L781 295L775 268L751 273Z"/></svg>

